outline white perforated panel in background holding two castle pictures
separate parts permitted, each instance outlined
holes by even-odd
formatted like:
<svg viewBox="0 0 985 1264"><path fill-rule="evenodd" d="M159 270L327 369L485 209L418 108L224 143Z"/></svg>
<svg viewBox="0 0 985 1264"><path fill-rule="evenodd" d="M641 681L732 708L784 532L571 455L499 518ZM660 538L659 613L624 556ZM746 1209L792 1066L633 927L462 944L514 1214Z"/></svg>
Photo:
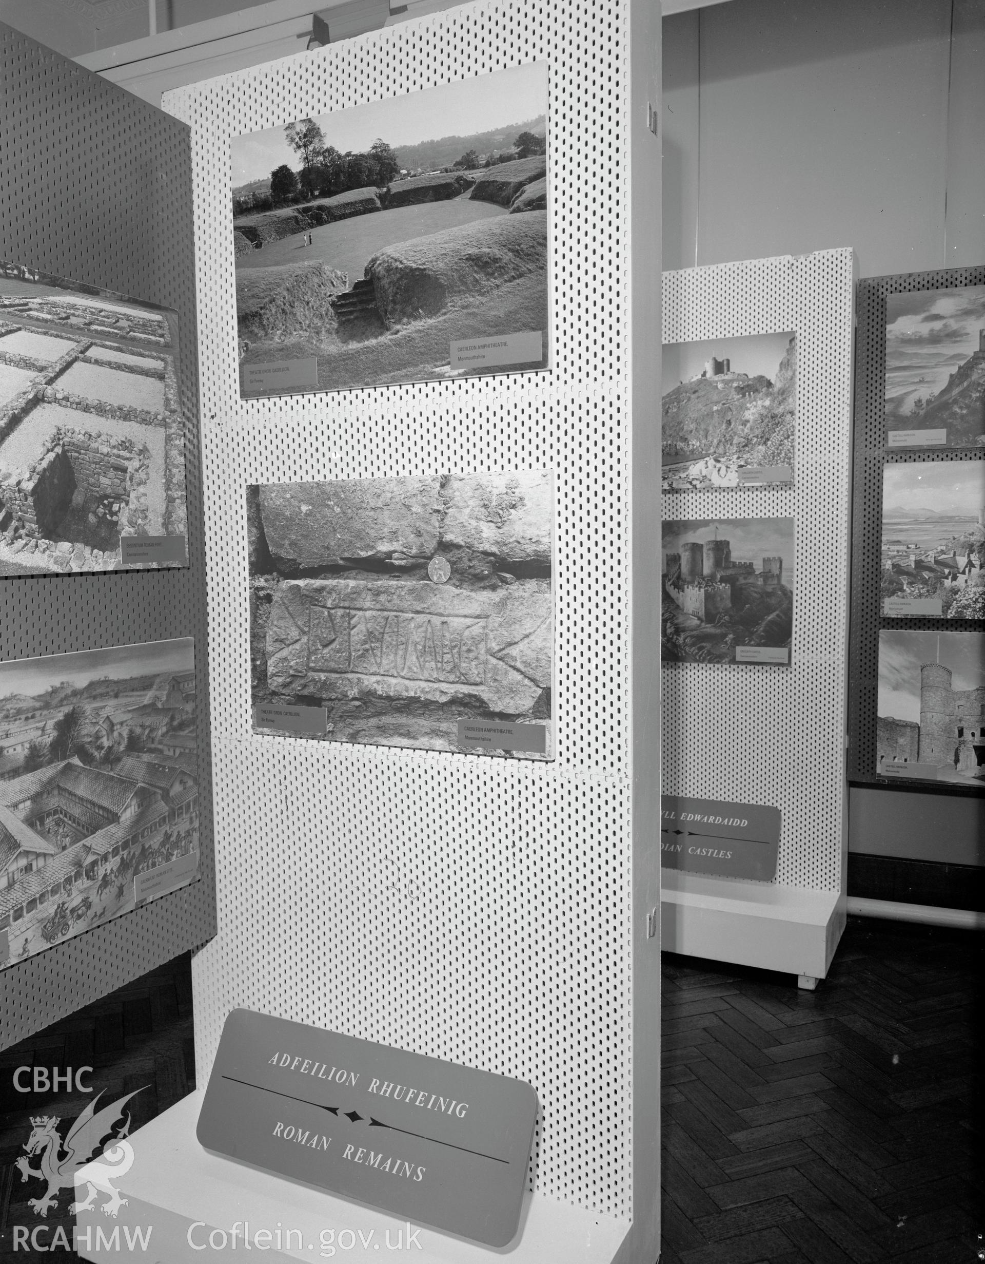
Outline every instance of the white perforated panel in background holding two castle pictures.
<svg viewBox="0 0 985 1264"><path fill-rule="evenodd" d="M792 487L667 492L664 520L792 517L789 669L663 670L663 790L780 809L777 881L842 882L851 501L851 250L664 273L663 341L793 330Z"/></svg>

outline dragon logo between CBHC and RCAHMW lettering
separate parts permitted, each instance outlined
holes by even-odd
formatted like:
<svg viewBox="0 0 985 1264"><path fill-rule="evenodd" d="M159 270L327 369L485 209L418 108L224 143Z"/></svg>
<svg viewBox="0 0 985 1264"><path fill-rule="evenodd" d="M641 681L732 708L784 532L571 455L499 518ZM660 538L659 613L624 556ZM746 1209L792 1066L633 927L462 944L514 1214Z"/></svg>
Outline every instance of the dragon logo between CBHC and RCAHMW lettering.
<svg viewBox="0 0 985 1264"><path fill-rule="evenodd" d="M16 1160L20 1169L20 1179L27 1181L34 1177L38 1181L47 1181L48 1189L40 1198L29 1198L28 1206L42 1217L58 1202L62 1189L73 1189L76 1177L81 1176L80 1184L88 1187L85 1202L73 1202L68 1211L73 1215L77 1211L92 1208L97 1193L110 1196L110 1201L102 1205L102 1211L107 1216L116 1216L126 1198L121 1198L117 1189L110 1183L125 1172L130 1170L134 1162L134 1149L125 1138L130 1133L130 1114L124 1120L124 1106L126 1102L143 1092L143 1088L134 1090L125 1097L119 1097L109 1106L97 1111L102 1093L97 1093L86 1106L75 1124L69 1127L64 1140L58 1131L61 1119L58 1116L39 1115L32 1117L32 1133L24 1143L27 1154ZM119 1127L119 1131L116 1130ZM104 1148L105 1139L105 1148ZM109 1163L95 1163L93 1159L101 1157ZM30 1160L38 1157L38 1167L30 1165ZM86 1170L82 1172L81 1169Z"/></svg>

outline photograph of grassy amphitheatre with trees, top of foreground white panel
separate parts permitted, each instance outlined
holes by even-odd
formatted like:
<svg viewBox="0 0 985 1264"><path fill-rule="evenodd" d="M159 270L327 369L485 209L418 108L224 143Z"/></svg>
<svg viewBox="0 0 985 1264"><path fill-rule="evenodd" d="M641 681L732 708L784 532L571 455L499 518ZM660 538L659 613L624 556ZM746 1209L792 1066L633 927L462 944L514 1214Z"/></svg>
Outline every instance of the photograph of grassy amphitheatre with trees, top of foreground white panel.
<svg viewBox="0 0 985 1264"><path fill-rule="evenodd" d="M547 62L231 157L244 397L548 367Z"/></svg>

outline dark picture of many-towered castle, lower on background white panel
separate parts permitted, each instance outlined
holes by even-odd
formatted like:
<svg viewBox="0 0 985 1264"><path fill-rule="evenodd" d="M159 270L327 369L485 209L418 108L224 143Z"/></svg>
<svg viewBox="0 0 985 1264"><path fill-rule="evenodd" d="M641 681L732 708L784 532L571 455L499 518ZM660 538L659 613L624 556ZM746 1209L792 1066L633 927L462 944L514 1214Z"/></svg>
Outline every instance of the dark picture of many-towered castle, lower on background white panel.
<svg viewBox="0 0 985 1264"><path fill-rule="evenodd" d="M664 662L789 666L793 518L663 523Z"/></svg>

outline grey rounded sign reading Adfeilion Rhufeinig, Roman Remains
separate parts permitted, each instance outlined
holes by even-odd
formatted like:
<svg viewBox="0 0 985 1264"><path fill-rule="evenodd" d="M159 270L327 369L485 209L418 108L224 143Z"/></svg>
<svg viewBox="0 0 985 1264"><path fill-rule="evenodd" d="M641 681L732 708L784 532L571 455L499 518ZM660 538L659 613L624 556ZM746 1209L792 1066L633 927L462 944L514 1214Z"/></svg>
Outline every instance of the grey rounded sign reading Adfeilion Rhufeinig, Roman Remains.
<svg viewBox="0 0 985 1264"><path fill-rule="evenodd" d="M519 1079L234 1010L208 1081L207 1150L505 1246L537 1095Z"/></svg>

